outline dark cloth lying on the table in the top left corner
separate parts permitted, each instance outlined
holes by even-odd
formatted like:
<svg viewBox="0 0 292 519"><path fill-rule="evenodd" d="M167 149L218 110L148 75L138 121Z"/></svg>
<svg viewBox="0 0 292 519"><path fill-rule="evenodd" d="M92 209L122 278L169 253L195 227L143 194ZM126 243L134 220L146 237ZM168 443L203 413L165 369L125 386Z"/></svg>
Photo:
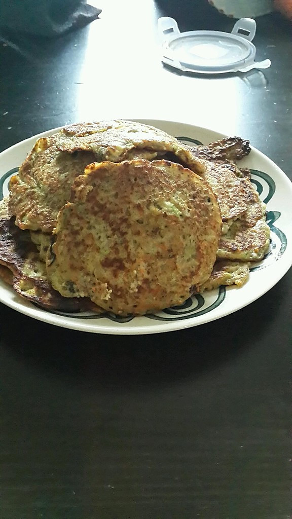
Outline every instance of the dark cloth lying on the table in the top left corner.
<svg viewBox="0 0 292 519"><path fill-rule="evenodd" d="M96 20L86 0L0 0L0 29L54 37Z"/></svg>

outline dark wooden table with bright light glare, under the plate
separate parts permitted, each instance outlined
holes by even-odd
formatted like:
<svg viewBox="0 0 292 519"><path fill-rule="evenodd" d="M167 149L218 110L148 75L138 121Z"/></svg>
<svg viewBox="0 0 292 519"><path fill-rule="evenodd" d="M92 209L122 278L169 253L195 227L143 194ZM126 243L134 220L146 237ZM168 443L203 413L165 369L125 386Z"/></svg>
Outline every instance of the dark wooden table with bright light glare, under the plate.
<svg viewBox="0 0 292 519"><path fill-rule="evenodd" d="M161 118L247 138L292 178L288 21L257 20L270 69L192 76L161 64L157 18L232 20L195 0L96 5L82 30L2 42L1 149L77 120ZM1 519L287 519L291 301L288 272L229 317L136 337L1 305Z"/></svg>

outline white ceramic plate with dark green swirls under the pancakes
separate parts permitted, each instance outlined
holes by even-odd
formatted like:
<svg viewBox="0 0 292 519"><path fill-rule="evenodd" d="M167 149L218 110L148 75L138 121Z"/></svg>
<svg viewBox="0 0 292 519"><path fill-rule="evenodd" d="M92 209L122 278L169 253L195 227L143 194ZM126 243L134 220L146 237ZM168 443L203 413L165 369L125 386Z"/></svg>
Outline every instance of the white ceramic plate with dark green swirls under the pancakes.
<svg viewBox="0 0 292 519"><path fill-rule="evenodd" d="M141 120L161 128L185 142L208 144L224 135L204 128L162 120ZM15 173L39 136L55 133L57 129L35 135L0 154L0 194L7 193L8 179ZM253 148L241 167L253 170L252 180L260 198L267 203L267 220L271 228L271 248L264 260L255 265L248 282L241 288L221 287L194 296L182 305L162 312L135 318L117 318L92 313L69 314L42 310L26 302L0 280L0 301L15 310L46 323L84 332L138 335L181 330L227 316L252 303L268 292L292 264L291 202L292 184L274 162Z"/></svg>

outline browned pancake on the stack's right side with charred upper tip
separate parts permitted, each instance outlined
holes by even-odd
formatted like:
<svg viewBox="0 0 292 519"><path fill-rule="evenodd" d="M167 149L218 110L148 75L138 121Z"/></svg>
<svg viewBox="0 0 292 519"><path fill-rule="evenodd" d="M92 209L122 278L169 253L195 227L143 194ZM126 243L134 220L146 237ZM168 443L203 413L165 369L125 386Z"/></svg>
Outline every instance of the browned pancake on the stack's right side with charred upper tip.
<svg viewBox="0 0 292 519"><path fill-rule="evenodd" d="M217 258L236 261L261 260L269 249L270 228L266 206L249 179L232 162L250 152L248 141L227 138L208 146L193 148L204 162L204 179L217 196L222 216L222 236Z"/></svg>

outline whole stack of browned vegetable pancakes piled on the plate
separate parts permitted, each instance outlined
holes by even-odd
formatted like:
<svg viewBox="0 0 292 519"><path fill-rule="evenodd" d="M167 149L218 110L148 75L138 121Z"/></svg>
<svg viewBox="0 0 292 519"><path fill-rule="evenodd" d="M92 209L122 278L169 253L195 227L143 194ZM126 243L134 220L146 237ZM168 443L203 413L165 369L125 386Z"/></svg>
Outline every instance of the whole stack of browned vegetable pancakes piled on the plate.
<svg viewBox="0 0 292 519"><path fill-rule="evenodd" d="M270 236L249 152L125 120L38 139L1 202L0 276L44 308L118 315L240 286Z"/></svg>

